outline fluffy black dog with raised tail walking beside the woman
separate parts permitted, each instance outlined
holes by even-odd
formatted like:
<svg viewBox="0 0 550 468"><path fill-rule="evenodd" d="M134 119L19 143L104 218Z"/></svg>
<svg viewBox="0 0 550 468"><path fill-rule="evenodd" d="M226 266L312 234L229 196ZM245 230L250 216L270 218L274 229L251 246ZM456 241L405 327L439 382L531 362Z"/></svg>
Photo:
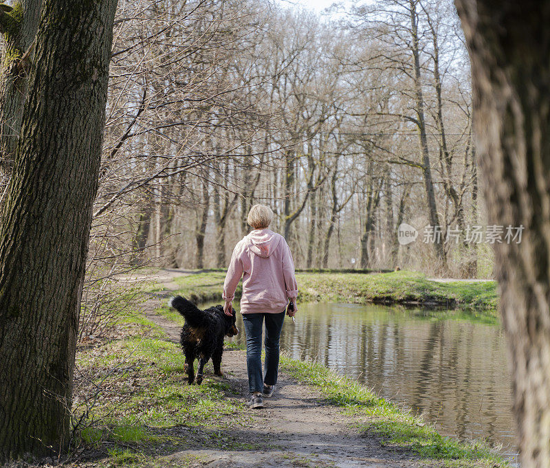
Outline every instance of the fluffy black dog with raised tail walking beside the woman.
<svg viewBox="0 0 550 468"><path fill-rule="evenodd" d="M223 354L223 337L232 337L239 333L236 328L235 313L229 317L223 313L223 306L214 306L201 311L195 304L186 298L175 296L170 299L170 307L176 309L185 317L185 325L181 328L179 342L185 354L185 367L188 382L195 381L193 361L199 359L197 370L197 384L202 383L204 364L212 358L214 374L223 375L221 372L221 355Z"/></svg>

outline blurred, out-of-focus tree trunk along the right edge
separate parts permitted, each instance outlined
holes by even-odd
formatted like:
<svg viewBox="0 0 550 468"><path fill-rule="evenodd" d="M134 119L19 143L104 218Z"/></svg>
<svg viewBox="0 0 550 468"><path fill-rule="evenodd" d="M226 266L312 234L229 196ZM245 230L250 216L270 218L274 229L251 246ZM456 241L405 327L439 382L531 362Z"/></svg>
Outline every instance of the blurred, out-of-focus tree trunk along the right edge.
<svg viewBox="0 0 550 468"><path fill-rule="evenodd" d="M522 468L550 466L550 1L456 0L472 59L476 147L496 243Z"/></svg>

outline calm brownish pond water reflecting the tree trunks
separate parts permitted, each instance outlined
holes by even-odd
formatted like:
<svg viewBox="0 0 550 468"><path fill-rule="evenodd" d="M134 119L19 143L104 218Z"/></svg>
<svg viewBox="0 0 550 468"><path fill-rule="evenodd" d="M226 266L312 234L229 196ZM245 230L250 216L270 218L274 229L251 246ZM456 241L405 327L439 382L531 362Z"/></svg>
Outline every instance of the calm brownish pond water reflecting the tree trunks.
<svg viewBox="0 0 550 468"><path fill-rule="evenodd" d="M242 317L239 336L245 344ZM459 311L300 304L281 348L309 357L403 403L441 433L483 438L514 456L506 338L498 321Z"/></svg>

